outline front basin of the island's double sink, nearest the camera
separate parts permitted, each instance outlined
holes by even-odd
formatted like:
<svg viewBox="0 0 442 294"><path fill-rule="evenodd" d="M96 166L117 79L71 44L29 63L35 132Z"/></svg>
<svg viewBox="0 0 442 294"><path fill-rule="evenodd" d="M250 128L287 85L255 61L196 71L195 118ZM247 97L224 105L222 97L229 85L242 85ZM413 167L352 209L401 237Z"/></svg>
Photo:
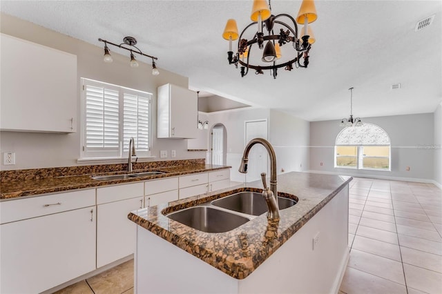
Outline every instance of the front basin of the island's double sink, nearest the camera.
<svg viewBox="0 0 442 294"><path fill-rule="evenodd" d="M166 215L170 219L206 233L223 233L238 228L250 219L209 206L193 206Z"/></svg>

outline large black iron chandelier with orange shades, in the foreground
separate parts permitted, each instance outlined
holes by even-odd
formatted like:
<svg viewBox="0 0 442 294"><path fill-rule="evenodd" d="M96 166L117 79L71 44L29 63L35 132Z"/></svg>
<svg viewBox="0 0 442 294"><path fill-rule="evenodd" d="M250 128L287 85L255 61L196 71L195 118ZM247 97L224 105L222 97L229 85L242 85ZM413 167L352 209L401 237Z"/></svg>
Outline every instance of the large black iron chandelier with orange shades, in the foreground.
<svg viewBox="0 0 442 294"><path fill-rule="evenodd" d="M292 70L307 68L309 50L315 42L313 31L308 25L316 21L317 14L313 0L303 0L298 17L289 14L271 13L270 0L254 0L250 19L253 21L238 34L235 19L229 19L222 37L229 41L227 60L229 64L241 66L241 77L254 70L256 75L270 70L273 79L278 75L278 68ZM298 24L303 24L298 30ZM278 31L279 30L279 31ZM263 32L265 31L265 32ZM232 41L238 39L238 50L233 56ZM245 39L245 38L251 39Z"/></svg>

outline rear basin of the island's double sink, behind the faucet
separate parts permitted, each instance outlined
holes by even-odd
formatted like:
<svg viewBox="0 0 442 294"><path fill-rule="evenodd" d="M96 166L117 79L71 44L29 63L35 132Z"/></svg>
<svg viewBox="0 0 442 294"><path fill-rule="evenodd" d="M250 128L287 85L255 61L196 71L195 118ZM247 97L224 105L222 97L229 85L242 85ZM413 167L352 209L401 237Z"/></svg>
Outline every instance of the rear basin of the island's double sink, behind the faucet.
<svg viewBox="0 0 442 294"><path fill-rule="evenodd" d="M261 193L256 192L240 192L211 202L213 206L226 208L247 215L262 215L267 212L267 204ZM278 197L279 209L294 206L296 201Z"/></svg>

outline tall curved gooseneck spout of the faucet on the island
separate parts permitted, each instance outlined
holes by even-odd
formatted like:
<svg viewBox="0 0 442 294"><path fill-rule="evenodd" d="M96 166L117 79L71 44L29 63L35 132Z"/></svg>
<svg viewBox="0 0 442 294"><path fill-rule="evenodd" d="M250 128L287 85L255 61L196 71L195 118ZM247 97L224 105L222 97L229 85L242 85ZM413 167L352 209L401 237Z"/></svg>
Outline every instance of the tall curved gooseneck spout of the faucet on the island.
<svg viewBox="0 0 442 294"><path fill-rule="evenodd" d="M276 206L278 207L278 190L276 188L276 154L273 147L266 139L255 138L251 139L247 146L244 148L244 154L242 155L242 161L240 164L240 173L247 173L247 164L249 161L249 151L255 144L261 144L267 149L270 157L270 190L273 192L273 196L276 199Z"/></svg>

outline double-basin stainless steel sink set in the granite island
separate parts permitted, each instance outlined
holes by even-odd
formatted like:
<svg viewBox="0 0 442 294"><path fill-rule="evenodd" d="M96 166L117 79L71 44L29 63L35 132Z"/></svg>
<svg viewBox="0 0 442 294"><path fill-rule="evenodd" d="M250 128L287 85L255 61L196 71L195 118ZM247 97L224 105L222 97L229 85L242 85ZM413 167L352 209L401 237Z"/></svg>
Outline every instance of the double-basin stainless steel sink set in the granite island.
<svg viewBox="0 0 442 294"><path fill-rule="evenodd" d="M278 197L279 209L294 206L296 201ZM238 228L267 212L261 193L240 192L220 199L169 213L166 217L206 233L223 233Z"/></svg>

